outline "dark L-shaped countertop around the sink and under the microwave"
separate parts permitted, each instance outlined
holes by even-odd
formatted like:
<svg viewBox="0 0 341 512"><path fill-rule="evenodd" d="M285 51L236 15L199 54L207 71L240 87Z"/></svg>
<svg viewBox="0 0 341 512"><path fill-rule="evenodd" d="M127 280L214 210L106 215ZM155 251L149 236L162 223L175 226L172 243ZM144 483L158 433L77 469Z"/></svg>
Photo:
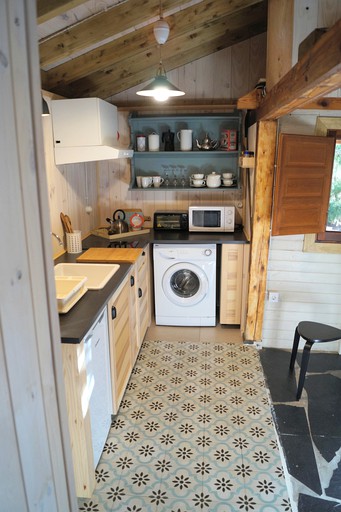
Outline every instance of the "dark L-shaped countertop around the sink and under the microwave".
<svg viewBox="0 0 341 512"><path fill-rule="evenodd" d="M148 244L177 244L177 243L215 243L215 244L236 244L249 243L242 231L234 233L189 233L187 231L154 231L144 235L132 234L124 238L124 241L131 242L139 240L139 246L145 247ZM90 235L82 241L83 251L91 247L108 247L109 240L106 238ZM54 261L58 263L75 263L79 254L65 253ZM64 314L59 315L60 334L62 343L80 343L92 324L109 301L112 294L122 283L128 274L131 265L120 263L119 270L113 275L110 281L102 290L88 290L86 294Z"/></svg>

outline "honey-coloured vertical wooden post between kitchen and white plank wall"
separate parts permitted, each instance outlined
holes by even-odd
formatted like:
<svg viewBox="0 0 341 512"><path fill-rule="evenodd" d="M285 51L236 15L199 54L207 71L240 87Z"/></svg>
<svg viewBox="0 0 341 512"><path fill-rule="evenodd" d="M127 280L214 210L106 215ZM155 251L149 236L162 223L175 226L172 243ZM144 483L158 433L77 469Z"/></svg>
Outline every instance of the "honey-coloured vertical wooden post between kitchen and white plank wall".
<svg viewBox="0 0 341 512"><path fill-rule="evenodd" d="M276 121L261 121L259 123L255 176L255 206L251 239L250 281L244 336L248 341L259 341L262 338L276 153L276 132Z"/></svg>

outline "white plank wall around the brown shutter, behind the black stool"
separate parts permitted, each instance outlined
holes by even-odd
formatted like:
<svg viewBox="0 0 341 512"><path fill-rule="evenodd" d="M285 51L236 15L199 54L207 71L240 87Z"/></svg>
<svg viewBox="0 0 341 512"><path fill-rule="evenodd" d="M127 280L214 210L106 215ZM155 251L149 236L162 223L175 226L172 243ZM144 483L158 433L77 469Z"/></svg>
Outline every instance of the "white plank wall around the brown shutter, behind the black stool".
<svg viewBox="0 0 341 512"><path fill-rule="evenodd" d="M316 114L302 110L286 116L280 131L313 135ZM265 347L291 348L295 327L302 320L341 328L341 253L303 252L303 242L304 235L271 237L267 290L279 292L280 301L265 302ZM319 349L337 351L338 346L334 342Z"/></svg>

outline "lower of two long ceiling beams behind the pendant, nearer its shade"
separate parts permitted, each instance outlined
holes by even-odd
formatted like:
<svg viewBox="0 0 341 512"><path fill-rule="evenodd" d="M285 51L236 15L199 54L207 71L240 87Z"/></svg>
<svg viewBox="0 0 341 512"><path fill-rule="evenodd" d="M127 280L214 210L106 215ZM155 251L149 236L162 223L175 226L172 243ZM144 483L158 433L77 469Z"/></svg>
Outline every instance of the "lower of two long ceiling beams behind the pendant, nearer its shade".
<svg viewBox="0 0 341 512"><path fill-rule="evenodd" d="M248 16L246 16L245 11L242 11L233 16L215 20L196 31L183 34L167 42L162 48L162 57L166 69L169 71L183 66L193 60L264 32L266 30L264 10L261 6L249 9L252 9L252 16L249 10L247 10ZM249 20L249 23L247 20ZM119 54L119 51L112 51L111 58L115 59ZM114 62L113 65L99 72L88 74L83 79L70 84L61 83L57 87L51 87L50 83L44 83L44 88L67 97L91 95L106 98L152 79L155 76L159 58L159 49L155 42L152 46L143 50L131 47L130 52L126 52L123 60L121 56L118 62ZM80 64L77 67L80 67Z"/></svg>

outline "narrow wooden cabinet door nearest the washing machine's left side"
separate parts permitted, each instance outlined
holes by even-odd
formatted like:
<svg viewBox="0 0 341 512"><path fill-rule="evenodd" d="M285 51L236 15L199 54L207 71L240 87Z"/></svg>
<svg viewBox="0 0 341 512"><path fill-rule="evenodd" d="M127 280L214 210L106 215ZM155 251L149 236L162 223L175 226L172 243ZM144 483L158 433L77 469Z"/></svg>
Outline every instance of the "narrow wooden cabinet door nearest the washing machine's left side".
<svg viewBox="0 0 341 512"><path fill-rule="evenodd" d="M149 248L148 248L149 249ZM137 261L138 274L138 318L139 318L139 338L142 343L146 331L150 325L150 270L149 270L149 251L145 249Z"/></svg>

